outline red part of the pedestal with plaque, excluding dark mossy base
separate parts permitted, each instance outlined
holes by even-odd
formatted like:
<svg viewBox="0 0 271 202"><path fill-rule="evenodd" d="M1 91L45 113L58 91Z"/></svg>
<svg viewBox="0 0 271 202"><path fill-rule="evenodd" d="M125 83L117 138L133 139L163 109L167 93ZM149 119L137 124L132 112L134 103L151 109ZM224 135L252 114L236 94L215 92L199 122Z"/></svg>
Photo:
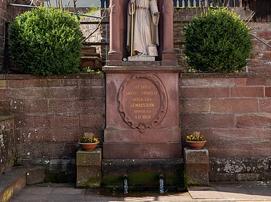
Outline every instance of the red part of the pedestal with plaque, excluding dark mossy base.
<svg viewBox="0 0 271 202"><path fill-rule="evenodd" d="M106 67L103 159L182 156L178 68Z"/></svg>

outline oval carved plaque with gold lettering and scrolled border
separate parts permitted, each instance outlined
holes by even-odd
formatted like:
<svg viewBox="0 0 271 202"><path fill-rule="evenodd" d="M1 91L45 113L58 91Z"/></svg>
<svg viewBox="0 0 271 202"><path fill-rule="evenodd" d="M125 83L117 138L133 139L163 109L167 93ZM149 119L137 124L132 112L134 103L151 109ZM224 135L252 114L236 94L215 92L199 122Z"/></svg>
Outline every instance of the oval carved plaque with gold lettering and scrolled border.
<svg viewBox="0 0 271 202"><path fill-rule="evenodd" d="M123 120L141 133L159 124L168 109L165 87L153 74L137 74L124 80L118 102Z"/></svg>

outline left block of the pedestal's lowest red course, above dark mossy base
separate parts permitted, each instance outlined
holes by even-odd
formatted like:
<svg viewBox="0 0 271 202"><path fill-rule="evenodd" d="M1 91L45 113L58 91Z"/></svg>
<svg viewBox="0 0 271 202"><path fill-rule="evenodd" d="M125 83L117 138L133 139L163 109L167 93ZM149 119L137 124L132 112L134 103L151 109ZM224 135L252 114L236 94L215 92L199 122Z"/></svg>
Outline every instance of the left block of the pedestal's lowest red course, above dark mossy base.
<svg viewBox="0 0 271 202"><path fill-rule="evenodd" d="M142 159L141 143L103 143L103 159Z"/></svg>

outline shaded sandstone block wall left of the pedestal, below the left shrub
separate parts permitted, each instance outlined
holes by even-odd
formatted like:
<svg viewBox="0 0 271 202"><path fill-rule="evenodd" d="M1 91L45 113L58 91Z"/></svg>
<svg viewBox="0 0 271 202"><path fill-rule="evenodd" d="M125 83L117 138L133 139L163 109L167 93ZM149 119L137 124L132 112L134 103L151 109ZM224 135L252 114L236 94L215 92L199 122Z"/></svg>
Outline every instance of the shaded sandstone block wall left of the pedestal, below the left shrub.
<svg viewBox="0 0 271 202"><path fill-rule="evenodd" d="M2 113L14 115L19 164L46 173L76 173L78 138L93 132L103 142L103 74L0 75Z"/></svg>

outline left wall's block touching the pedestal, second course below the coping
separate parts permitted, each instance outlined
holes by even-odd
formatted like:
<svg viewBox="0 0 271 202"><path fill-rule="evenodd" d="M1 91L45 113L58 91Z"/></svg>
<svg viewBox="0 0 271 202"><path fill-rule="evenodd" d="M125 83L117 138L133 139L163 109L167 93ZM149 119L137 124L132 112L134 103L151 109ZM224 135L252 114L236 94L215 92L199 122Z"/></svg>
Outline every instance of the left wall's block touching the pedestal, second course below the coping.
<svg viewBox="0 0 271 202"><path fill-rule="evenodd" d="M50 98L76 98L76 99L88 99L91 97L103 97L103 87L58 87L51 88L48 91L48 97Z"/></svg>

